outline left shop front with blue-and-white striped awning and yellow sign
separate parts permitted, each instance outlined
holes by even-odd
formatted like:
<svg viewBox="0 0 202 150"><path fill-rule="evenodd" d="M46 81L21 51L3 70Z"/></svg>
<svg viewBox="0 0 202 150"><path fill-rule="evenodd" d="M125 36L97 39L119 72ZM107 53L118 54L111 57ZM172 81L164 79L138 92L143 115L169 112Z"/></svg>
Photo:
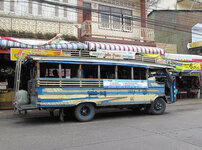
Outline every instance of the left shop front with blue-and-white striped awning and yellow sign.
<svg viewBox="0 0 202 150"><path fill-rule="evenodd" d="M83 43L60 43L46 45L29 45L14 40L0 38L0 109L13 107L15 64L19 53L23 56L32 55L64 55L61 50L86 50ZM69 53L68 53L69 55Z"/></svg>

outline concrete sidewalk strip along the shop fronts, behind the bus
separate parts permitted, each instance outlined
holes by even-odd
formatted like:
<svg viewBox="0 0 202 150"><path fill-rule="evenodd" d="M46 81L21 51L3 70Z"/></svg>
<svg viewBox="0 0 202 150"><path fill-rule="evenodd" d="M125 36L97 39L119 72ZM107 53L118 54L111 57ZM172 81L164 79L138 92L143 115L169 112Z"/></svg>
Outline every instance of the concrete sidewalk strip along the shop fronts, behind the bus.
<svg viewBox="0 0 202 150"><path fill-rule="evenodd" d="M202 99L179 99L177 102L173 104L168 104L168 107L172 106L181 106L181 105L196 105L202 104ZM57 113L56 113L57 115ZM12 118L24 118L24 117L47 117L49 116L49 112L42 110L29 110L25 115L24 112L22 114L18 114L18 112L14 112L14 110L0 110L0 119L12 119Z"/></svg>

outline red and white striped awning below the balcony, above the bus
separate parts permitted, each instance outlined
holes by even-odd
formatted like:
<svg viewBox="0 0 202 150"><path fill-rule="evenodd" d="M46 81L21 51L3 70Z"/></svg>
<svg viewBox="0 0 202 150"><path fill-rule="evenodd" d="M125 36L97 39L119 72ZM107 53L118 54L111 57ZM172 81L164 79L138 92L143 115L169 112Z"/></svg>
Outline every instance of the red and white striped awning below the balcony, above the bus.
<svg viewBox="0 0 202 150"><path fill-rule="evenodd" d="M158 47L113 44L113 43L99 43L99 42L86 42L89 50L113 50L117 52L134 52L134 53L147 53L147 54L165 54L165 50Z"/></svg>

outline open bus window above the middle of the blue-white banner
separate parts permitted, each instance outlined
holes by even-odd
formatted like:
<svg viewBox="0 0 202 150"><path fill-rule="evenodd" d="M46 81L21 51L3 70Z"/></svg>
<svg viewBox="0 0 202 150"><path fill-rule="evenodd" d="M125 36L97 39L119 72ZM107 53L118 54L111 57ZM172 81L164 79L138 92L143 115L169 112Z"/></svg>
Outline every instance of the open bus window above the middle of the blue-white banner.
<svg viewBox="0 0 202 150"><path fill-rule="evenodd" d="M118 66L118 79L132 79L131 67Z"/></svg>

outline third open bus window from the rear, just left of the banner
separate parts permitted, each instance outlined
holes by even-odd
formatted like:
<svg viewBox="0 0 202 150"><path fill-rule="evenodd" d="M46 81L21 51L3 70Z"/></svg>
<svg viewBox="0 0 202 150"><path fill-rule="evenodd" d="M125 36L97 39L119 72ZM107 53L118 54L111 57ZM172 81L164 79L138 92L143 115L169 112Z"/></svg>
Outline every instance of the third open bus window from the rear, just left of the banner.
<svg viewBox="0 0 202 150"><path fill-rule="evenodd" d="M83 78L97 79L98 66L97 65L82 65Z"/></svg>

